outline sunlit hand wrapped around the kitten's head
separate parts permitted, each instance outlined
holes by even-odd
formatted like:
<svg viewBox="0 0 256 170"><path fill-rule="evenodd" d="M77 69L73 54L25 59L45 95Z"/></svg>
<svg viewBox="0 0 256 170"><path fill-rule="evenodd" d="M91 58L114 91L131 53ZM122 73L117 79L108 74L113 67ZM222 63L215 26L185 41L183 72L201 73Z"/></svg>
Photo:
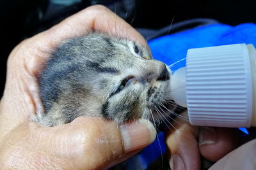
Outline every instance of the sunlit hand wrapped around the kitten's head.
<svg viewBox="0 0 256 170"><path fill-rule="evenodd" d="M103 6L91 6L51 29L22 41L8 58L0 103L0 165L3 169L105 169L154 141L147 120L118 126L79 117L70 124L39 127L29 117L42 111L36 76L63 39L97 30L147 46L129 24Z"/></svg>

